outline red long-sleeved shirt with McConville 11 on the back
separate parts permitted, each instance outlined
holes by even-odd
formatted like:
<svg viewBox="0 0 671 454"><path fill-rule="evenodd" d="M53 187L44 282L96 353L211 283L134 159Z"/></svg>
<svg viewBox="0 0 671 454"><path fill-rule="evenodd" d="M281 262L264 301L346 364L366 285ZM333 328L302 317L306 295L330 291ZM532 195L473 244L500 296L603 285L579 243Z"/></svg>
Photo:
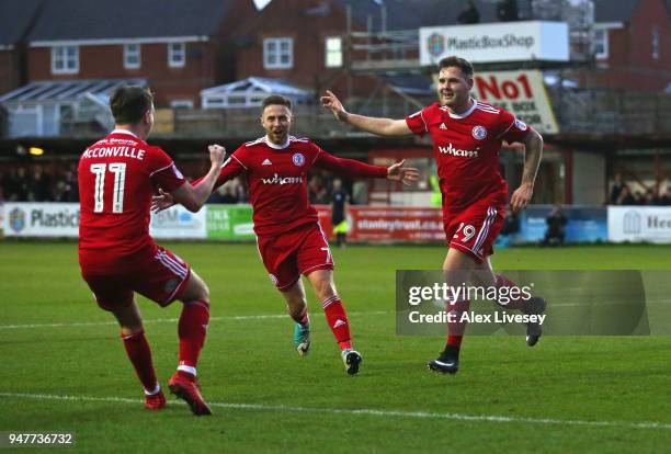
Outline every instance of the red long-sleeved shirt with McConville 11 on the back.
<svg viewBox="0 0 671 454"><path fill-rule="evenodd" d="M151 195L173 191L184 177L163 150L133 133L115 129L79 159L79 259L89 271L114 271L145 248Z"/></svg>

